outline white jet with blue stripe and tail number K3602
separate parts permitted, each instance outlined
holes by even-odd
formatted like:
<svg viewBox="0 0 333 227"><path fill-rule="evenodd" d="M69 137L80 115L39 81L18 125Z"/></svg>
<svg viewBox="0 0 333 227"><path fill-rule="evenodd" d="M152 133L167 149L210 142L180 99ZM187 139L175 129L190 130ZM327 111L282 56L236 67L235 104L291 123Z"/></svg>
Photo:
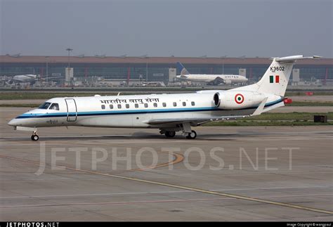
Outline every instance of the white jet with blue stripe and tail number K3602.
<svg viewBox="0 0 333 227"><path fill-rule="evenodd" d="M204 122L260 115L283 106L292 67L300 59L303 56L273 58L259 82L228 91L51 98L8 124L32 131L33 141L39 139L38 127L60 126L152 128L166 137L182 131L186 138L195 138L191 127Z"/></svg>

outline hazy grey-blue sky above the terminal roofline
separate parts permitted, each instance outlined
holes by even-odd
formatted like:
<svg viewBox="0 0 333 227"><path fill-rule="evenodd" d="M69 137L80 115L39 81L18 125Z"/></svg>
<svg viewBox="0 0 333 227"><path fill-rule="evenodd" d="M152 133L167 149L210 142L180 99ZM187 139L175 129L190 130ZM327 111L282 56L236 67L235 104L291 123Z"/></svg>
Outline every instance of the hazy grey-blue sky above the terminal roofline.
<svg viewBox="0 0 333 227"><path fill-rule="evenodd" d="M321 55L332 0L0 0L0 54Z"/></svg>

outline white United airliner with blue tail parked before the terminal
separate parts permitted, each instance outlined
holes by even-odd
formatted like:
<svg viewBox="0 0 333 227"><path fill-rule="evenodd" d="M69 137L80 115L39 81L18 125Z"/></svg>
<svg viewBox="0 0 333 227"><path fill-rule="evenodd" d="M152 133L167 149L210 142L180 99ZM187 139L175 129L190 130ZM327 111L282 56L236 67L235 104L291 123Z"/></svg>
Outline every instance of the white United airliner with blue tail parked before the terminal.
<svg viewBox="0 0 333 227"><path fill-rule="evenodd" d="M209 85L218 84L239 84L247 82L247 77L241 75L233 74L191 74L186 70L186 68L181 64L177 63L177 69L181 72L176 78L185 80L188 82L204 82Z"/></svg>

